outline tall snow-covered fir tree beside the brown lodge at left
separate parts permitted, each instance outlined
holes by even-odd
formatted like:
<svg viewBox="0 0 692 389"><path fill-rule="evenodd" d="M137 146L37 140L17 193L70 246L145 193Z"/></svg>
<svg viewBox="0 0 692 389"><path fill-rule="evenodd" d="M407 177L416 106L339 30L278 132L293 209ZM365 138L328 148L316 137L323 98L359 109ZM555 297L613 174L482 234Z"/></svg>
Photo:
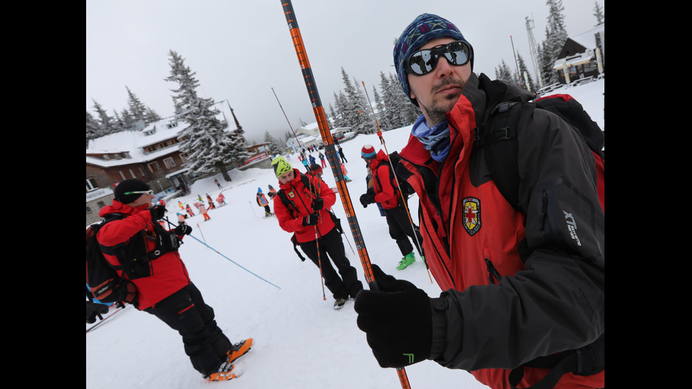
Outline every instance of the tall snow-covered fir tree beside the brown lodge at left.
<svg viewBox="0 0 692 389"><path fill-rule="evenodd" d="M170 50L168 54L171 72L165 80L179 85L172 89L174 107L189 124L179 133L179 149L189 160L186 166L191 174L221 172L226 181L231 181L228 167L243 164L249 157L245 140L237 131L224 131L224 124L216 117L219 110L213 107L213 100L197 95L196 73L185 66L177 52Z"/></svg>

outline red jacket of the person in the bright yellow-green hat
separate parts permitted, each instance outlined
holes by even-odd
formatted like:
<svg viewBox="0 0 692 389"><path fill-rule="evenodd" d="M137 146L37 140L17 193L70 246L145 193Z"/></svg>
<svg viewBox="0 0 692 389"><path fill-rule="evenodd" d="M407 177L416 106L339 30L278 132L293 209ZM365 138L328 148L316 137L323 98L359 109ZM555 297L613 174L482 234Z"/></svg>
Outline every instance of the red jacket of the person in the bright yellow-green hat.
<svg viewBox="0 0 692 389"><path fill-rule="evenodd" d="M301 174L297 169L293 169L293 172L295 173L295 178L286 184L279 184L279 188L285 191L288 200L297 208L297 212L286 208L279 196L273 196L274 215L276 215L279 225L284 231L295 232L299 243L314 241L317 238L315 226L304 226L303 217L314 213L312 201L318 194L324 201L322 209L319 210L318 234L323 236L330 232L335 224L327 210L336 203L336 194L322 179L316 176ZM303 185L301 176L307 177L314 188L306 188Z"/></svg>

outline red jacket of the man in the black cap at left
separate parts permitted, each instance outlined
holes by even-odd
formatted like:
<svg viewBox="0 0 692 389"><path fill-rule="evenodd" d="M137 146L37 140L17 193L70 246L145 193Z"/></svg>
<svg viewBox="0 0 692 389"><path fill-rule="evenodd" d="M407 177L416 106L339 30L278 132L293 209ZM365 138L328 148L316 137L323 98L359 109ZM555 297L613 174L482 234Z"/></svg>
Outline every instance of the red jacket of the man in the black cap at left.
<svg viewBox="0 0 692 389"><path fill-rule="evenodd" d="M149 253L155 249L155 242L142 239L139 232L145 230L145 234L155 234L155 227L151 221L151 214L147 210L148 205L132 208L114 200L112 205L101 209L99 215L105 217L112 213L126 215L124 219L113 220L104 225L97 234L97 240L105 248L115 248L120 245L136 245L145 243L145 250ZM182 237L180 237L182 238ZM106 260L114 266L120 265L120 261L114 255L104 253ZM162 256L149 261L150 276L131 280L137 287L137 309L143 310L153 306L157 302L169 297L190 283L190 277L185 264L178 251L169 251ZM122 276L123 272L118 271Z"/></svg>

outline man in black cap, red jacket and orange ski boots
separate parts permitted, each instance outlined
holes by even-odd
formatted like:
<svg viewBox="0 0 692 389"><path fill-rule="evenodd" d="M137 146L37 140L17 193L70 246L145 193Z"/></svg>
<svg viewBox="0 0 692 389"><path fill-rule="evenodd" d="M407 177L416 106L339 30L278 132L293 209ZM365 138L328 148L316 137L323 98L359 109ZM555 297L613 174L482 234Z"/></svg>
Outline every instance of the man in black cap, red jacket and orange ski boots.
<svg viewBox="0 0 692 389"><path fill-rule="evenodd" d="M178 252L182 237L192 227L181 224L172 231L163 229L157 221L166 208L152 207L154 198L145 182L121 181L112 205L100 211L107 221L97 234L100 249L118 274L136 287L136 299L128 302L180 333L185 353L203 378L235 378L232 362L249 351L252 339L232 345L222 333L214 310L190 280Z"/></svg>

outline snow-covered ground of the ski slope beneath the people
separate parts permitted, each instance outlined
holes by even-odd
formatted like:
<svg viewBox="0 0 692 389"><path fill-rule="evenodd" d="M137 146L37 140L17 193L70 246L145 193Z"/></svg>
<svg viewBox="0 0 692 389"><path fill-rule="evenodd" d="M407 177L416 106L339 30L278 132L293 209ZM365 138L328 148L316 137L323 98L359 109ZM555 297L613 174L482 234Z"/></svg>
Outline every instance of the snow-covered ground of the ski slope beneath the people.
<svg viewBox="0 0 692 389"><path fill-rule="evenodd" d="M605 129L604 83L601 79L553 93L573 95ZM401 150L409 133L410 127L384 132L387 150ZM342 147L348 159L348 176L352 179L347 188L355 201L354 209L371 262L436 297L441 290L431 280L422 261L405 270L396 270L400 253L389 237L384 217L376 206L362 208L357 202L365 192L366 170L360 149L366 143L380 147L376 135L357 136L342 143ZM297 155L291 155L290 162L304 172ZM210 210L211 220L207 222L203 222L201 215L187 220L193 227L192 237L184 239L180 253L191 279L205 301L213 306L217 322L229 339L232 342L246 337L254 339L251 351L237 360L236 369L241 376L226 383L203 381L184 354L178 333L154 316L128 306L86 334L86 388L194 389L210 388L209 385L250 389L400 388L395 369L379 367L365 334L358 329L353 300L335 311L328 289L325 289L326 300L323 299L318 268L309 260L299 260L290 234L279 227L275 217L263 218L263 208L256 204L255 193L258 187L267 193L268 185L278 189L273 171L234 170L230 174L231 182L225 182L220 175L196 182L191 186L191 195L181 199L190 205L198 194L205 198L209 193L215 199L220 192L213 183L217 178L227 205ZM335 187L330 169L326 169L323 179ZM416 198L411 198L409 203L412 215L417 215ZM169 220L176 222L176 213L182 212L177 199L170 201L167 209ZM340 199L333 210L347 229ZM348 229L345 239L347 256L366 285L359 256L352 251L355 248ZM485 388L470 373L445 369L433 361L408 366L406 373L415 389Z"/></svg>

